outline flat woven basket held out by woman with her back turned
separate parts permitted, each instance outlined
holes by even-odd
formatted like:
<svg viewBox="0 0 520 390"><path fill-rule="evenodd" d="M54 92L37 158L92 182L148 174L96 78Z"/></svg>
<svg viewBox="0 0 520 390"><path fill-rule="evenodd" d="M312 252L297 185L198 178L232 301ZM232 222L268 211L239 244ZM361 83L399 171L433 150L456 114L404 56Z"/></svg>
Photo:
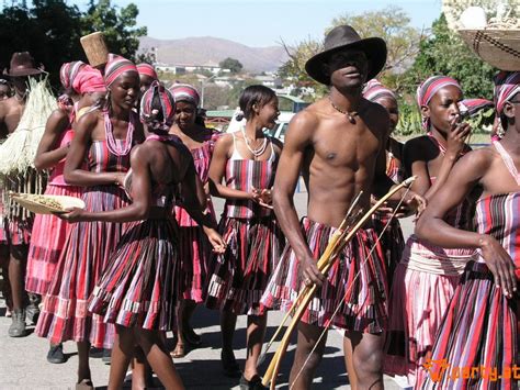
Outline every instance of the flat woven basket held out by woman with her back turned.
<svg viewBox="0 0 520 390"><path fill-rule="evenodd" d="M76 197L38 196L12 191L9 192L9 197L35 214L65 213L72 208L84 209L84 202Z"/></svg>

